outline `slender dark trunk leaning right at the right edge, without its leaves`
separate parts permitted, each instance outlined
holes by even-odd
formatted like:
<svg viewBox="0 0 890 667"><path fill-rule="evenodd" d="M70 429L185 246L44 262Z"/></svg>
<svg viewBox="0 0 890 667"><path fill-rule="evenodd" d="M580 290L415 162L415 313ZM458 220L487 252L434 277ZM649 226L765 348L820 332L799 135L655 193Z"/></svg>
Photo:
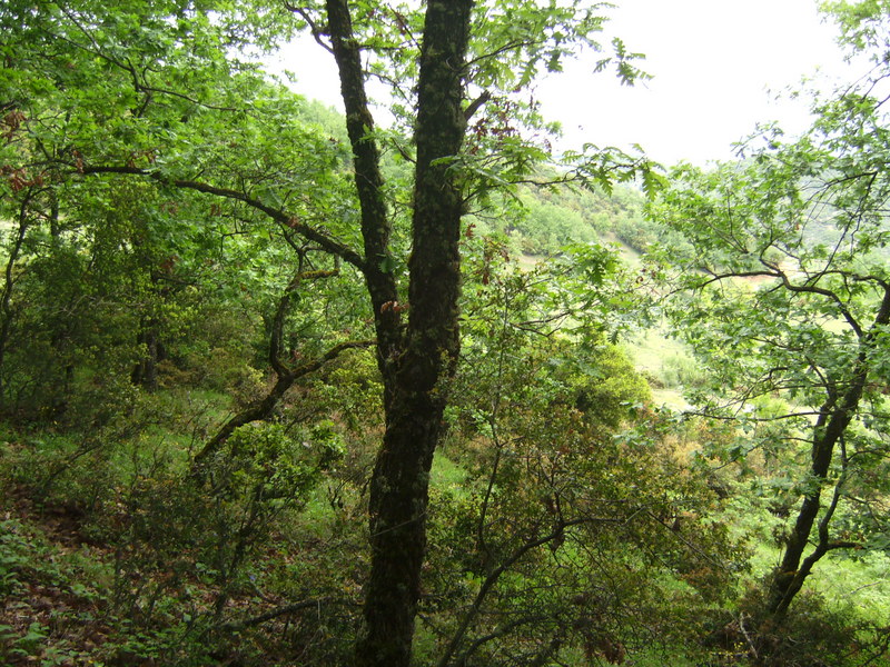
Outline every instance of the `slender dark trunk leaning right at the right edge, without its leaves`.
<svg viewBox="0 0 890 667"><path fill-rule="evenodd" d="M788 610L812 571L813 565L832 548L828 541L828 522L838 501L837 492L827 517L820 524L819 542L807 558L803 557L821 508L822 484L828 479L835 448L859 409L866 389L870 367L869 356L874 347L874 336L887 326L888 321L890 321L890 286L884 286L883 299L874 323L860 340L859 356L847 388L839 396L829 398L813 428L810 476L818 485L804 496L794 527L785 541L782 561L770 579L767 597L767 610L770 614L781 615Z"/></svg>

